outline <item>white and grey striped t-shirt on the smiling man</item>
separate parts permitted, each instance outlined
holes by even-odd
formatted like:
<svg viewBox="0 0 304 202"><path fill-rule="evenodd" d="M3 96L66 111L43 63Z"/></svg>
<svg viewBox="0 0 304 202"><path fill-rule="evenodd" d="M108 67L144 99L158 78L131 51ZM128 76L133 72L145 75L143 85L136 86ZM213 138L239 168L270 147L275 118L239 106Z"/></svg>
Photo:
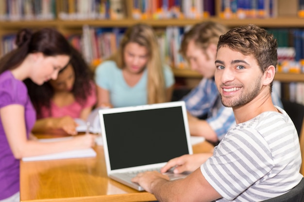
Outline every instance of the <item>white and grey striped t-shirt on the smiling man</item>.
<svg viewBox="0 0 304 202"><path fill-rule="evenodd" d="M287 113L268 111L237 124L202 166L223 197L217 202L258 202L288 192L302 179L299 138Z"/></svg>

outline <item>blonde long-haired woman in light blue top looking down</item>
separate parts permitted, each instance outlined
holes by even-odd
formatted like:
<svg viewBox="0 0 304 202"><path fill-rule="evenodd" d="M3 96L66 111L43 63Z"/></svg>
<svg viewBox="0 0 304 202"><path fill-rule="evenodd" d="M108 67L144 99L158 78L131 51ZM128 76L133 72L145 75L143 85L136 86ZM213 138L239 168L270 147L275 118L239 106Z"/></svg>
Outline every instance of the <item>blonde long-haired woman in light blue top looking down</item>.
<svg viewBox="0 0 304 202"><path fill-rule="evenodd" d="M127 107L169 102L174 76L161 61L153 29L146 24L130 27L116 54L96 69L98 107Z"/></svg>

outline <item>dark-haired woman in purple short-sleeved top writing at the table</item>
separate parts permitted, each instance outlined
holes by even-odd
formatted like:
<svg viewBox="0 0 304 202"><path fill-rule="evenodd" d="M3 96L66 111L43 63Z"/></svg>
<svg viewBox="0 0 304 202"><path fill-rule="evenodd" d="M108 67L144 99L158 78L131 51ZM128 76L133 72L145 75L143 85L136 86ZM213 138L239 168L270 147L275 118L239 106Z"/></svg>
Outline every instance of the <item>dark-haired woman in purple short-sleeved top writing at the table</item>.
<svg viewBox="0 0 304 202"><path fill-rule="evenodd" d="M19 159L94 145L85 135L62 142L38 142L31 134L36 113L23 80L37 85L56 79L70 60L68 41L44 28L17 33L17 48L0 59L0 202L19 201Z"/></svg>

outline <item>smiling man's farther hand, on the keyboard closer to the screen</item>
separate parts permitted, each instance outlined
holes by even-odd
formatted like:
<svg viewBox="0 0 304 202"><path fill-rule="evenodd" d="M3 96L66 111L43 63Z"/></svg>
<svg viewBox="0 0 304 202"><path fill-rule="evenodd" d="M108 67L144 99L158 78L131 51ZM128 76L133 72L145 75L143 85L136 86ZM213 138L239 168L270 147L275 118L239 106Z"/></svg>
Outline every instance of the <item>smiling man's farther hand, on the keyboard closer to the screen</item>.
<svg viewBox="0 0 304 202"><path fill-rule="evenodd" d="M160 171L164 173L175 167L173 170L174 173L182 173L185 171L192 172L198 169L210 156L212 156L212 153L182 155L169 160Z"/></svg>

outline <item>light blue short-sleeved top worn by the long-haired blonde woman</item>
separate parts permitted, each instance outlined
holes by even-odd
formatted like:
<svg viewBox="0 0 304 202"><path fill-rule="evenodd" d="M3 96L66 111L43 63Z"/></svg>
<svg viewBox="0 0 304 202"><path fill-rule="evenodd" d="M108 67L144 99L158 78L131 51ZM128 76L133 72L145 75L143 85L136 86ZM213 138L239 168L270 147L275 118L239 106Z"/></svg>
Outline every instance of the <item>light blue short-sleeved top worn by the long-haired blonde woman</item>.
<svg viewBox="0 0 304 202"><path fill-rule="evenodd" d="M164 65L164 77L166 88L175 83L171 68L167 65ZM115 108L148 104L146 69L138 83L130 87L116 63L105 61L95 71L95 82L99 87L109 91L111 104Z"/></svg>

